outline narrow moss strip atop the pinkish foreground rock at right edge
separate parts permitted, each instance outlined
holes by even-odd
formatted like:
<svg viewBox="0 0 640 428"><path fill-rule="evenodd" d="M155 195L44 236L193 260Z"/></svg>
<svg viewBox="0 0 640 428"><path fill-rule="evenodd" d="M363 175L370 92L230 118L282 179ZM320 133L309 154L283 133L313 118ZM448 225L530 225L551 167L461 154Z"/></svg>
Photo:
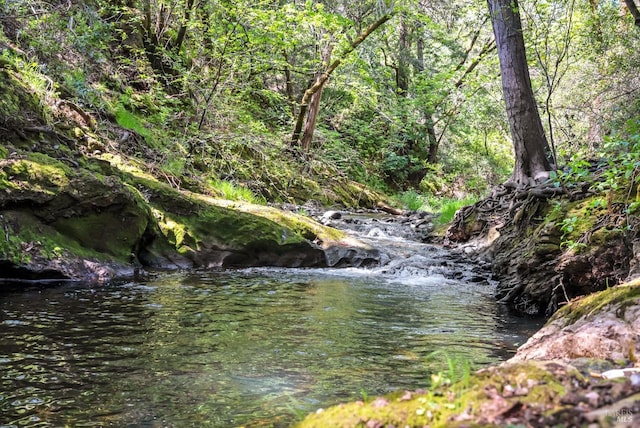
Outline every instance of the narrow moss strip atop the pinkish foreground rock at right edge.
<svg viewBox="0 0 640 428"><path fill-rule="evenodd" d="M624 309L631 304L638 304L639 301L640 280L635 280L571 302L558 310L549 322L561 319L567 326L581 318L597 314L609 305L620 305L620 315L624 316Z"/></svg>

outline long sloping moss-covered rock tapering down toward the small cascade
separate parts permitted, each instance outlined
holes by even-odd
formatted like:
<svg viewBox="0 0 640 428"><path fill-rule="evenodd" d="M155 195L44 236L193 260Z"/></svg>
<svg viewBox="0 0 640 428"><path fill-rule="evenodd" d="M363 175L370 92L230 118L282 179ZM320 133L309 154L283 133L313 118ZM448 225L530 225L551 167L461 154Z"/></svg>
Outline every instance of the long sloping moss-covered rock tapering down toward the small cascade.
<svg viewBox="0 0 640 428"><path fill-rule="evenodd" d="M378 258L374 249L308 217L179 192L145 177L129 180L145 195L157 225L141 254L150 265L333 266ZM349 260L336 259L336 249L345 247L352 251Z"/></svg>

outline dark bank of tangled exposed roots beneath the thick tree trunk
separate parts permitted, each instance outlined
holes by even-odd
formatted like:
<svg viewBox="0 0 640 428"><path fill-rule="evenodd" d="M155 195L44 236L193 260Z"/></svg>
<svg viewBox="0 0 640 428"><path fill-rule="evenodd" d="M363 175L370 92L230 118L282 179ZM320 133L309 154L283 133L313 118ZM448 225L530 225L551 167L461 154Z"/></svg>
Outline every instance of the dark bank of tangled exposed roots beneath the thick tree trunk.
<svg viewBox="0 0 640 428"><path fill-rule="evenodd" d="M625 201L614 200L612 192L598 194L592 184L498 186L456 213L444 243L475 243L475 254L491 260L500 280L501 303L522 314L550 315L576 296L622 282L632 266L640 266L633 260L640 221L626 212ZM582 208L596 197L606 200L606 209ZM577 213L569 216L570 210ZM566 225L573 217L585 224L579 233ZM497 238L489 239L492 233Z"/></svg>

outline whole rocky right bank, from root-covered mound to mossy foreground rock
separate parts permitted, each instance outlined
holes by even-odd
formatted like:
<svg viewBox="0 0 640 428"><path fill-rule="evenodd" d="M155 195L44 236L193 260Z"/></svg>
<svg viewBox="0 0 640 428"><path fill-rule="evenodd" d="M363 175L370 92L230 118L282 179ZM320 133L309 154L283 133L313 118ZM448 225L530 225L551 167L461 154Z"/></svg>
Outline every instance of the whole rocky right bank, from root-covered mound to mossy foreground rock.
<svg viewBox="0 0 640 428"><path fill-rule="evenodd" d="M559 213L535 195L515 196L515 208L499 209L495 198L467 207L445 238L454 257L492 267L496 298L511 310L553 314L513 358L462 376L445 371L428 389L318 409L300 426L640 426L637 237L617 227L637 219L616 211L585 219L574 236L587 249L563 251ZM560 214L587 203L570 201Z"/></svg>

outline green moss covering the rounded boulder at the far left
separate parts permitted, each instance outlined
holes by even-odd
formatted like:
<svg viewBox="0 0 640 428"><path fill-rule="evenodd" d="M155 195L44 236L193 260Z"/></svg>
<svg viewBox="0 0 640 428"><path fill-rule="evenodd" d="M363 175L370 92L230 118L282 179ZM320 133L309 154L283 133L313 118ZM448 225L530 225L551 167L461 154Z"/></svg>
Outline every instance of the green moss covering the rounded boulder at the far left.
<svg viewBox="0 0 640 428"><path fill-rule="evenodd" d="M15 238L5 239L3 253L14 262L28 262L24 241L38 242L33 248L46 260L67 254L127 263L150 219L138 192L116 177L72 169L42 153L0 161L0 183L9 200L40 206L31 221L12 223Z"/></svg>

